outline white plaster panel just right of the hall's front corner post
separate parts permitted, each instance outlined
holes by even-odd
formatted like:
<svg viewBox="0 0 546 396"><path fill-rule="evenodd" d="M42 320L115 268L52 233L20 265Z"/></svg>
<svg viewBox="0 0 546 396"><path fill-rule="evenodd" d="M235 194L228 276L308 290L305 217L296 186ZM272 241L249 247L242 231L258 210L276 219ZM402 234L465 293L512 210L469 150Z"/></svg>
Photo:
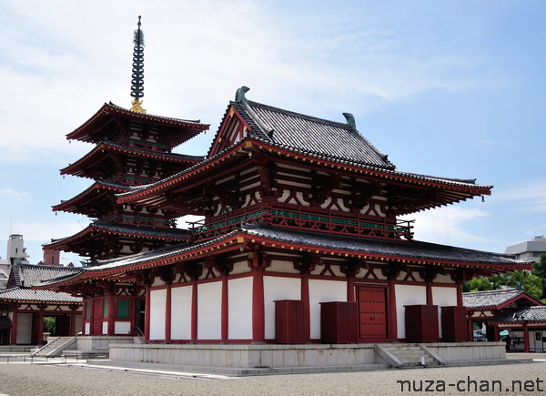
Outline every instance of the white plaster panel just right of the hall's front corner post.
<svg viewBox="0 0 546 396"><path fill-rule="evenodd" d="M266 339L275 338L275 300L301 300L301 280L264 277Z"/></svg>

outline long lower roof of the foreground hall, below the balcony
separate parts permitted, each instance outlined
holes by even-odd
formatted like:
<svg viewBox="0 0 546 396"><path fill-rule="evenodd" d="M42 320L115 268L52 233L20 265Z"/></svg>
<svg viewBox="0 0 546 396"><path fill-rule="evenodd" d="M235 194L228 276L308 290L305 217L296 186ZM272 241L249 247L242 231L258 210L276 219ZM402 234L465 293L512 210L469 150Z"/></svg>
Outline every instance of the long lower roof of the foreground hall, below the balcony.
<svg viewBox="0 0 546 396"><path fill-rule="evenodd" d="M196 245L176 245L150 250L123 258L98 260L97 265L85 269L71 279L51 279L38 285L39 288L54 289L74 284L84 279L123 277L128 271L150 269L176 262L219 254L239 249L247 243L287 251L311 251L325 257L349 254L368 260L404 262L414 265L436 265L486 269L502 272L513 269L531 269L531 263L513 259L511 255L490 253L480 250L455 248L413 240L411 242L383 239L359 239L339 235L325 235L316 232L286 230L264 225L244 224L240 229L217 239L210 239ZM241 245L242 244L242 245Z"/></svg>

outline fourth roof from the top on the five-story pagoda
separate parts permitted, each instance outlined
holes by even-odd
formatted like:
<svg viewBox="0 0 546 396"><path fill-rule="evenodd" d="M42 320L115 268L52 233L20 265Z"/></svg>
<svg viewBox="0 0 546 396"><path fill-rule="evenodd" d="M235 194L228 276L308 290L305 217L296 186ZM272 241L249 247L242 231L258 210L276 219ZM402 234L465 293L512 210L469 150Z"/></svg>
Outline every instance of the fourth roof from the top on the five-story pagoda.
<svg viewBox="0 0 546 396"><path fill-rule="evenodd" d="M119 236L142 237L146 239L169 239L173 241L187 241L188 231L179 228L151 228L131 226L127 224L107 223L96 220L76 234L63 239L53 239L44 244L45 249L65 250L71 244L77 244L92 238L94 233L115 234Z"/></svg>

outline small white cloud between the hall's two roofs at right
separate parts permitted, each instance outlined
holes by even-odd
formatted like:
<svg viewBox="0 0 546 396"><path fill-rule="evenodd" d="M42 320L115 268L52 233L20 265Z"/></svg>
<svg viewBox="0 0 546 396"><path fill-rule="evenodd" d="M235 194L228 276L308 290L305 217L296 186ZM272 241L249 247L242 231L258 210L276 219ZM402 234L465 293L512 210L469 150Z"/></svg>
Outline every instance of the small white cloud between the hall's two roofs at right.
<svg viewBox="0 0 546 396"><path fill-rule="evenodd" d="M436 208L414 214L415 239L445 245L465 246L491 242L468 232L472 221L487 218L489 213L476 208Z"/></svg>

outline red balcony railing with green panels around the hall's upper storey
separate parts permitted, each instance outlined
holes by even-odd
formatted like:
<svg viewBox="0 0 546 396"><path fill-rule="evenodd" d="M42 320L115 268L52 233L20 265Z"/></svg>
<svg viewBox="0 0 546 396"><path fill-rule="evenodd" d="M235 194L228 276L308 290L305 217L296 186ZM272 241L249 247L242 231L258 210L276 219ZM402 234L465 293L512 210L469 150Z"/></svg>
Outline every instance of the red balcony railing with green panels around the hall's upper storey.
<svg viewBox="0 0 546 396"><path fill-rule="evenodd" d="M266 222L282 228L308 229L333 234L355 235L378 239L413 238L414 220L376 221L360 215L344 216L339 212L312 212L307 209L289 208L243 208L227 212L214 218L190 223L190 235L193 241L203 241L225 235L243 223Z"/></svg>

